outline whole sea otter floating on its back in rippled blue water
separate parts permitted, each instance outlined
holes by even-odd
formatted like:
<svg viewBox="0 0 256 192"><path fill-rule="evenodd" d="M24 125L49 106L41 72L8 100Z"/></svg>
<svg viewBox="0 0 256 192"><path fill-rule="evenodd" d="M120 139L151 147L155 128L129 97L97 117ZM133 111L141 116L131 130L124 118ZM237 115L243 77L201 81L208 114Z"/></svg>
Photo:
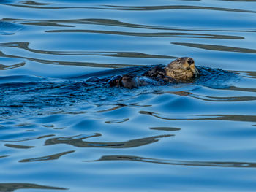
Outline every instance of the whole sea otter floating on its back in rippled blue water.
<svg viewBox="0 0 256 192"><path fill-rule="evenodd" d="M135 74L116 75L109 85L124 88L138 88L143 85L165 85L168 82L192 82L198 75L192 58L177 58L165 67L155 66L141 76Z"/></svg>

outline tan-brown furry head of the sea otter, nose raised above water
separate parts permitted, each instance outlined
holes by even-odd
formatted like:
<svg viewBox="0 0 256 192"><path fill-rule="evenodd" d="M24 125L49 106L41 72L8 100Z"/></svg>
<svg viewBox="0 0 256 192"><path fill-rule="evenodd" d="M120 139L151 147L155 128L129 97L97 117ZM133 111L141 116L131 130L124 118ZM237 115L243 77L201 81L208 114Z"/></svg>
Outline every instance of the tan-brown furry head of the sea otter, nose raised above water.
<svg viewBox="0 0 256 192"><path fill-rule="evenodd" d="M189 82L198 74L192 58L177 58L165 67L165 71L168 77L178 82Z"/></svg>

